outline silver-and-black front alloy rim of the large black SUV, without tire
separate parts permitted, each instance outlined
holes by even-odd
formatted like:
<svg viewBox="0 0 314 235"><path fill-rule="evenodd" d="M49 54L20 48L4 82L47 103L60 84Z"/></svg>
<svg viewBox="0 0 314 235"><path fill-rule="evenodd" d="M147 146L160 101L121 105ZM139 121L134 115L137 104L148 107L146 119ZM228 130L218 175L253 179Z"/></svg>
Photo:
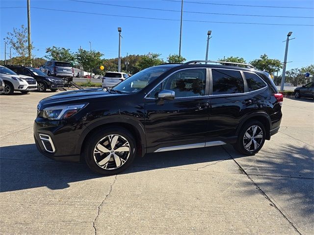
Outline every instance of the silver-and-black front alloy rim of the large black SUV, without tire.
<svg viewBox="0 0 314 235"><path fill-rule="evenodd" d="M127 162L130 152L130 143L126 138L120 135L108 135L96 144L94 160L103 169L113 170Z"/></svg>

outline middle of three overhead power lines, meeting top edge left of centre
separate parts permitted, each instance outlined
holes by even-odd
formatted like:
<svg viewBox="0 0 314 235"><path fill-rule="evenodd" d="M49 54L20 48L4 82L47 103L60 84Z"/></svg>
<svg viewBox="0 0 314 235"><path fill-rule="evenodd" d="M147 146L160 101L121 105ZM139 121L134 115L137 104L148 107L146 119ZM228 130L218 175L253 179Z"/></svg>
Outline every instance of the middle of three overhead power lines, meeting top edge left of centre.
<svg viewBox="0 0 314 235"><path fill-rule="evenodd" d="M125 6L125 5L116 5L109 3L101 3L101 2L92 2L92 1L82 1L82 0L69 0L76 2L84 2L98 5L106 5L106 6L116 6L116 7L126 7L126 8L134 8L134 9L143 9L143 10L154 10L154 11L170 11L170 12L181 12L179 10L169 10L169 9L159 9L159 8L149 8L149 7L139 7L139 6ZM181 2L181 1L180 1ZM195 13L195 14L208 14L208 15L224 15L224 16L253 16L253 17L279 17L279 18L314 18L311 16L271 16L271 15L247 15L247 14L228 14L228 13L215 13L215 12L199 12L199 11L183 11L184 13Z"/></svg>

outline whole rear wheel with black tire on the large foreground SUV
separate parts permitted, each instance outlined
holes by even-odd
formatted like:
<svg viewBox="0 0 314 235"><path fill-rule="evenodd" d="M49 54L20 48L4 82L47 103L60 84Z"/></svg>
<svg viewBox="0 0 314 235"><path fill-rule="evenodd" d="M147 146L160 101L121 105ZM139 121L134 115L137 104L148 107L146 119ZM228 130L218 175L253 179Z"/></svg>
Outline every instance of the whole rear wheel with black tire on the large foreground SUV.
<svg viewBox="0 0 314 235"><path fill-rule="evenodd" d="M253 136L254 128L252 129L252 127L255 127L255 126L257 126L259 128L256 129L255 136ZM251 132L251 130L252 130L252 132ZM246 134L247 131L248 131L248 136L250 136L251 139L248 138L248 136L245 136L245 138L244 138L244 135ZM260 131L262 131L262 138L260 138L260 134L261 134ZM257 136L259 136L259 138L257 138ZM261 150L261 148L265 142L265 136L266 136L266 130L265 130L264 125L257 120L252 120L252 121L249 121L247 124L245 124L242 127L242 130L240 131L240 133L238 135L237 141L235 144L233 144L233 146L234 146L235 150L237 150L241 154L254 155ZM256 143L256 145L255 145L255 143ZM257 147L257 148L255 148L255 147Z"/></svg>

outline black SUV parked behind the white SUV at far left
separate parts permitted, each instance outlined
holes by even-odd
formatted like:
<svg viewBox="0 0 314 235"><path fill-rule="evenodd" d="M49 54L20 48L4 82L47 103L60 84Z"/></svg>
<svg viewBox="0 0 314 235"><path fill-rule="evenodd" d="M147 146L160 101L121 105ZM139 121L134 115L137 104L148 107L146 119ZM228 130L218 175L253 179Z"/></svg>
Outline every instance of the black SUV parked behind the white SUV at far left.
<svg viewBox="0 0 314 235"><path fill-rule="evenodd" d="M18 65L6 65L12 71L17 74L33 77L37 81L37 91L45 92L47 89L55 92L58 87L63 87L63 80L58 77L48 76L43 71L32 67L18 66Z"/></svg>

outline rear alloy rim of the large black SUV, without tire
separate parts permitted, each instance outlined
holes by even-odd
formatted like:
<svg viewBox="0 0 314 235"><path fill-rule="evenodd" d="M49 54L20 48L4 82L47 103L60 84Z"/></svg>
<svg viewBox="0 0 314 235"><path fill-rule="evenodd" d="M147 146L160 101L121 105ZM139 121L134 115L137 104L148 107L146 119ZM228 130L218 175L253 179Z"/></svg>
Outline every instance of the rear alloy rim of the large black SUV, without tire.
<svg viewBox="0 0 314 235"><path fill-rule="evenodd" d="M255 151L263 141L263 131L261 127L254 125L249 127L243 137L243 145L247 151Z"/></svg>

